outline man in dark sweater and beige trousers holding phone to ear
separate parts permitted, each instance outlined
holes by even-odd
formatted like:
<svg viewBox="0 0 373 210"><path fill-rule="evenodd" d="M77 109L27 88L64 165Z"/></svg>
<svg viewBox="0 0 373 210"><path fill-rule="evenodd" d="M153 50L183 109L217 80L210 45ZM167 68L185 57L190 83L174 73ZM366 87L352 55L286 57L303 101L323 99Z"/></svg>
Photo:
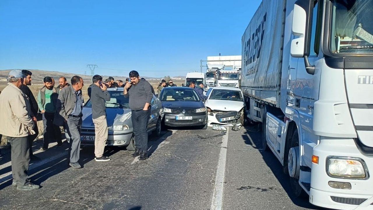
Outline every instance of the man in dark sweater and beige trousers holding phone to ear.
<svg viewBox="0 0 373 210"><path fill-rule="evenodd" d="M110 101L110 94L106 85L102 84L102 77L94 75L93 84L88 87L88 96L92 104L92 120L95 130L94 154L96 161L109 161L110 158L103 156L107 141L107 122L105 101Z"/></svg>

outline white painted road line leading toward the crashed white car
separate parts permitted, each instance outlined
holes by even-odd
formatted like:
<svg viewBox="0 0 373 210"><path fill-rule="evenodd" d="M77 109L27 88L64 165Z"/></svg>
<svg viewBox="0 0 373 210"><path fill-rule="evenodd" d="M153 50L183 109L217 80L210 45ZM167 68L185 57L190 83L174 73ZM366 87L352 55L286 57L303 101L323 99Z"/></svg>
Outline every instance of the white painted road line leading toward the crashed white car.
<svg viewBox="0 0 373 210"><path fill-rule="evenodd" d="M219 162L216 169L215 188L211 201L211 210L221 210L223 206L223 190L225 177L225 163L227 159L228 134L223 136L222 148L220 148Z"/></svg>

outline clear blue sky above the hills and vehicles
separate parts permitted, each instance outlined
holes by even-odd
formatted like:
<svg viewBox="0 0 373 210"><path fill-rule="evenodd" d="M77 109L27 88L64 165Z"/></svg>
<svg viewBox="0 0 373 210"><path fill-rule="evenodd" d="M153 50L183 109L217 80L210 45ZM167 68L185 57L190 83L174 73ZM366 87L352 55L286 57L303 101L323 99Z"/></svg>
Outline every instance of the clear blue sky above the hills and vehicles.
<svg viewBox="0 0 373 210"><path fill-rule="evenodd" d="M0 70L185 75L207 56L241 55L259 0L1 0Z"/></svg>

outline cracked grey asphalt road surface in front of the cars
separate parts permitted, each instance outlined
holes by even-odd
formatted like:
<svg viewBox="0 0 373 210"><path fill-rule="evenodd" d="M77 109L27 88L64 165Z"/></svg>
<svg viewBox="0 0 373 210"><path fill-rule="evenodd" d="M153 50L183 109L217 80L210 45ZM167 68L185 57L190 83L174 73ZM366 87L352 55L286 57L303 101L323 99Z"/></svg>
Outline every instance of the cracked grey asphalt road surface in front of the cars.
<svg viewBox="0 0 373 210"><path fill-rule="evenodd" d="M294 198L279 161L261 149L256 127L229 130L170 130L149 142L151 156L139 161L131 151L108 149L109 162L95 162L93 148L81 150L83 169L68 167L66 148L29 172L37 191L21 192L0 179L0 209L7 210L298 210L319 209ZM66 147L66 145L65 145ZM46 161L47 160L47 161ZM6 160L0 175L9 173ZM217 170L219 169L219 170ZM5 180L6 179L6 180ZM5 182L4 182L5 180Z"/></svg>

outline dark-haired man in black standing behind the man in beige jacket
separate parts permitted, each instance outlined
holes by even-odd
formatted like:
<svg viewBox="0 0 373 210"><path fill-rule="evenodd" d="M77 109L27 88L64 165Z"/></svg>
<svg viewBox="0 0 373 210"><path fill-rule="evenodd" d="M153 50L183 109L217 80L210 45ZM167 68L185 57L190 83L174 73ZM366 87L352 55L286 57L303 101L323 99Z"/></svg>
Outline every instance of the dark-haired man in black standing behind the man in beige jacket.
<svg viewBox="0 0 373 210"><path fill-rule="evenodd" d="M32 143L34 142L34 140L38 137L39 135L39 129L38 129L38 124L37 124L37 116L38 116L38 102L36 102L36 99L35 99L35 96L32 94L31 90L29 89L29 87L27 87L28 85L31 85L31 71L28 71L28 70L22 70L22 74L25 75L25 79L23 80L23 86L20 88L22 90L23 93L26 94L26 96L29 98L30 100L30 105L31 105L31 118L32 118L32 121L34 121L34 131L35 131L35 134L34 135L29 135L27 137L28 139L28 144L29 144L29 147L30 147L30 159L31 160L40 160L39 157L35 156L32 152Z"/></svg>

